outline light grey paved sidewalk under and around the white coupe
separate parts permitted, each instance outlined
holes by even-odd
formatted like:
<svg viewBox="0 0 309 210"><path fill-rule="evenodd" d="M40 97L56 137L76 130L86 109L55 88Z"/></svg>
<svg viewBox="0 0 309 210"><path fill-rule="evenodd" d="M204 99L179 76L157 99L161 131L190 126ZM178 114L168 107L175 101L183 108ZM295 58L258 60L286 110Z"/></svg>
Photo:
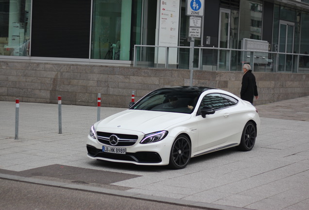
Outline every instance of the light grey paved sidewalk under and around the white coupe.
<svg viewBox="0 0 309 210"><path fill-rule="evenodd" d="M261 130L250 152L192 158L182 170L94 161L86 138L97 107L0 102L0 178L121 194L213 209L307 210L309 96L258 105ZM101 107L101 118L124 108ZM1 196L1 192L0 192Z"/></svg>

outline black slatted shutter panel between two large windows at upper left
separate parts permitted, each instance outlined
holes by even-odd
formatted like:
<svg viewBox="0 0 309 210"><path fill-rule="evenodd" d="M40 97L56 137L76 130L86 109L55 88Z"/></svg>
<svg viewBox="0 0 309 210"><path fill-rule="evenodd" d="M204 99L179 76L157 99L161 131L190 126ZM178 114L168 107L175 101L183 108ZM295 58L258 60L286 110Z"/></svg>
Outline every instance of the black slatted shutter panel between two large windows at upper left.
<svg viewBox="0 0 309 210"><path fill-rule="evenodd" d="M89 58L91 0L33 0L31 56Z"/></svg>

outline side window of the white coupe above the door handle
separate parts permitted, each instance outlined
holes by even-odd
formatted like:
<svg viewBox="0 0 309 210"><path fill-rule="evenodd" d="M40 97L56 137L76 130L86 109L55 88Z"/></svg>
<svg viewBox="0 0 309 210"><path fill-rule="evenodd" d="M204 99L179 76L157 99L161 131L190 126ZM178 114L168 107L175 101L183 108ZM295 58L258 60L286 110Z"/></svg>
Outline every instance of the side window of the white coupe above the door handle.
<svg viewBox="0 0 309 210"><path fill-rule="evenodd" d="M219 93L212 93L204 96L200 108L208 106L217 110L236 105L237 103L238 100L233 97Z"/></svg>

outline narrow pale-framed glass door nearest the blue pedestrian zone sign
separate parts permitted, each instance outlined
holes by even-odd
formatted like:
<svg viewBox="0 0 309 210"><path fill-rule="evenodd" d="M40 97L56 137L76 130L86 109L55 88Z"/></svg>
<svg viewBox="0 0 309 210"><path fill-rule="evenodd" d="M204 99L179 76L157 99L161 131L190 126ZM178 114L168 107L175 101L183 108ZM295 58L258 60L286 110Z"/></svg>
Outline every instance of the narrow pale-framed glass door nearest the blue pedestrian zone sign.
<svg viewBox="0 0 309 210"><path fill-rule="evenodd" d="M219 48L230 47L230 21L231 10L220 9L219 18ZM229 70L230 52L227 50L220 50L218 52L218 70Z"/></svg>

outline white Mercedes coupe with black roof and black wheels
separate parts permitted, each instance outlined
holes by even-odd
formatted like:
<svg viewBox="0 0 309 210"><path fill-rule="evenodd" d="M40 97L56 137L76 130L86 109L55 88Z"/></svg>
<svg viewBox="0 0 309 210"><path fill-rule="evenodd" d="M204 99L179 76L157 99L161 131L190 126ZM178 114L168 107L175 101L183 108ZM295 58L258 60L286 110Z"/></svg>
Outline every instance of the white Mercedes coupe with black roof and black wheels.
<svg viewBox="0 0 309 210"><path fill-rule="evenodd" d="M253 148L256 108L227 91L206 87L156 89L90 128L88 157L137 165L187 166L190 158Z"/></svg>

